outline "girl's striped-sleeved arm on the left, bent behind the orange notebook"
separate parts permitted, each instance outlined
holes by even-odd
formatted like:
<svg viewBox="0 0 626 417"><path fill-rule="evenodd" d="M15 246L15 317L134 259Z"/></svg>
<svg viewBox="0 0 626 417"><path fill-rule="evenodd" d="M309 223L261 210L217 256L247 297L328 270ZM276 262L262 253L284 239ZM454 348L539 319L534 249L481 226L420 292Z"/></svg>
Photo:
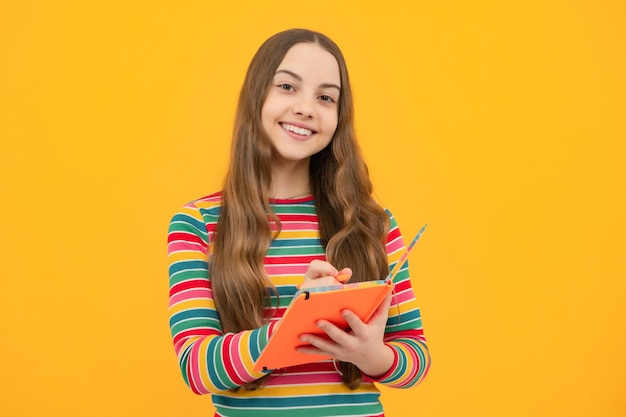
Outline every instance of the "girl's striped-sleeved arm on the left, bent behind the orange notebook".
<svg viewBox="0 0 626 417"><path fill-rule="evenodd" d="M183 378L196 394L225 391L264 375L252 370L274 323L236 334L222 332L209 279L207 226L188 204L168 230L169 316Z"/></svg>

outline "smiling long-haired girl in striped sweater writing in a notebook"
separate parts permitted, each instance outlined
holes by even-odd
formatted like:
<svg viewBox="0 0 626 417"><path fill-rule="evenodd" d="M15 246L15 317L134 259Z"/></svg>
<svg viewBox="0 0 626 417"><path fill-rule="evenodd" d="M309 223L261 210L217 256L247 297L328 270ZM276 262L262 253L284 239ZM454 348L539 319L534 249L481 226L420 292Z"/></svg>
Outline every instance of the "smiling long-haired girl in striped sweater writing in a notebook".
<svg viewBox="0 0 626 417"><path fill-rule="evenodd" d="M216 416L383 416L375 383L418 384L430 356L408 275L367 323L302 335L336 358L253 371L297 287L384 279L404 248L372 197L346 63L326 36L295 29L252 59L220 192L169 227L170 328L183 378ZM342 268L339 270L339 268Z"/></svg>

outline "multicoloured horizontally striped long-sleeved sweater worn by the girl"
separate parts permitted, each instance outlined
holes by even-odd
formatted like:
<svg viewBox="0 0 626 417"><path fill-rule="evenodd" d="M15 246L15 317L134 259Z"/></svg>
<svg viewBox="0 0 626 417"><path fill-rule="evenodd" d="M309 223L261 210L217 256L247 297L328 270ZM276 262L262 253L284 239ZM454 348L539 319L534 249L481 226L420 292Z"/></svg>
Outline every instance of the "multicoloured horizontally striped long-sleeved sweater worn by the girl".
<svg viewBox="0 0 626 417"><path fill-rule="evenodd" d="M185 205L176 213L168 231L169 314L174 350L185 383L196 394L212 395L216 416L315 417L383 416L375 383L408 388L428 372L430 355L425 344L419 308L409 279L408 264L395 278L395 296L389 310L385 343L395 361L386 375L367 376L350 390L341 381L332 361L274 370L259 390L240 387L264 375L253 371L261 350L301 283L313 259L325 260L319 240L318 219L312 198L272 201L282 229L271 242L265 269L276 286L278 311L269 323L239 333L224 333L215 308L208 254L220 213L221 194ZM393 268L404 249L394 218L387 254Z"/></svg>

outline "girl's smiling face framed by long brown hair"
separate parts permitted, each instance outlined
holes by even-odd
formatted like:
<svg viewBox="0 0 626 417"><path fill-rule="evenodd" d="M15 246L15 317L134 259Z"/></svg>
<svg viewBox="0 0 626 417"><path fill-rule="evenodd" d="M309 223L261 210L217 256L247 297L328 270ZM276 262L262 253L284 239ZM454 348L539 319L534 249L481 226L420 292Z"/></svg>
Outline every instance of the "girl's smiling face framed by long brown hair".
<svg viewBox="0 0 626 417"><path fill-rule="evenodd" d="M261 110L275 164L306 162L337 129L341 77L337 60L316 43L292 46L278 66Z"/></svg>

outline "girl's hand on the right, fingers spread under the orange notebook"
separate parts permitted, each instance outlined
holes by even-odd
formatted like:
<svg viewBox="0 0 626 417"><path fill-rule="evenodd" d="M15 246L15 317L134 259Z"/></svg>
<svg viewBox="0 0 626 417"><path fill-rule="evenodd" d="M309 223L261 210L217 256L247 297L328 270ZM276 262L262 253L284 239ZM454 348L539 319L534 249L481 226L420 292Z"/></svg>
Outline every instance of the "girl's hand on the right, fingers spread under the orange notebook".
<svg viewBox="0 0 626 417"><path fill-rule="evenodd" d="M394 361L393 351L383 343L391 297L391 294L387 295L367 323L363 323L350 310L342 311L341 315L350 326L348 332L326 320L318 321L317 327L326 332L330 340L303 334L300 340L311 346L300 347L298 352L328 355L344 362L351 362L371 377L384 375Z"/></svg>

